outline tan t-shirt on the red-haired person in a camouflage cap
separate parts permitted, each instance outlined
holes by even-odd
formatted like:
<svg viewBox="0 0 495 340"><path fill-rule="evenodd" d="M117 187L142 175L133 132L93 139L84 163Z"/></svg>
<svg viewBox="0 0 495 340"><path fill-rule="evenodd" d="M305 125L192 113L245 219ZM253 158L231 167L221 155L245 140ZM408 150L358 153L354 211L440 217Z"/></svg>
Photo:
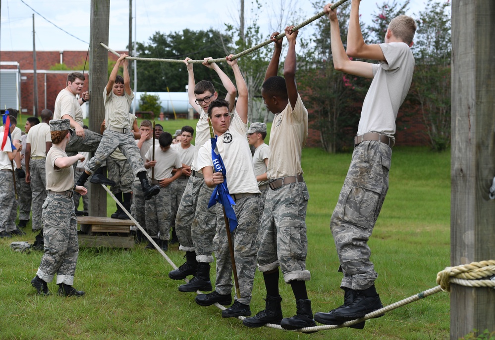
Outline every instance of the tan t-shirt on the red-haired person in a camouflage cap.
<svg viewBox="0 0 495 340"><path fill-rule="evenodd" d="M74 189L74 167L69 166L64 169L55 167L55 159L59 157L67 157L67 154L57 146L52 146L45 161L46 189L57 193Z"/></svg>

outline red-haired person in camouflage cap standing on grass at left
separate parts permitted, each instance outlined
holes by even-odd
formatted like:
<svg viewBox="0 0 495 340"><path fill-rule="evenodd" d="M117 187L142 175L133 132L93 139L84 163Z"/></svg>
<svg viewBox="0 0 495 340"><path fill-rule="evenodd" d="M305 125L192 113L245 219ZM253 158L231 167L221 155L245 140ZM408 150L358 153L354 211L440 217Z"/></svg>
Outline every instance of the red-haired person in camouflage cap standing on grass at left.
<svg viewBox="0 0 495 340"><path fill-rule="evenodd" d="M84 157L81 154L68 157L65 153L70 140L68 119L51 120L50 130L53 146L46 158L48 196L43 204L42 221L45 253L31 285L38 294L49 295L47 283L52 282L56 274L59 295L80 296L84 291L72 287L79 254L72 191L79 194L88 192L84 187L74 186L73 164Z"/></svg>

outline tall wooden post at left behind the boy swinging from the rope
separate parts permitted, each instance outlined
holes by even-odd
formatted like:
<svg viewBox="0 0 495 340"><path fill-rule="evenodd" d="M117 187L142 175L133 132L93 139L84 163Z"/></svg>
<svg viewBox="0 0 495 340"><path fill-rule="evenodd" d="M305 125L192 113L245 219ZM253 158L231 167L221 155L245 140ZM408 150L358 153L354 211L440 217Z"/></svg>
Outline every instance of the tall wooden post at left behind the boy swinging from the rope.
<svg viewBox="0 0 495 340"><path fill-rule="evenodd" d="M109 52L100 45L109 43L110 0L91 0L89 51L89 128L100 132L105 119L103 89L108 82ZM90 216L107 216L107 192L100 184L90 183Z"/></svg>

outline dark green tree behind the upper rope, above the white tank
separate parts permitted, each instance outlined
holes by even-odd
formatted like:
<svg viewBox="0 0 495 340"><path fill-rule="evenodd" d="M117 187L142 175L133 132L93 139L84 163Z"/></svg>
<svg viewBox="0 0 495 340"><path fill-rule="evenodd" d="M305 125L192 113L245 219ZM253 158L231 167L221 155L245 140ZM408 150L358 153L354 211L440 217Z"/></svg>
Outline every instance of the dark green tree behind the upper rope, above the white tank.
<svg viewBox="0 0 495 340"><path fill-rule="evenodd" d="M163 34L156 32L149 44L137 43L136 51L140 57L165 58L165 59L203 59L205 57L218 58L227 55L225 50L231 44L232 39L219 31L192 31L185 29L182 32ZM219 64L229 76L233 76L230 67ZM201 64L194 65L196 81L210 80L220 94L225 94L220 79L215 72ZM186 65L161 62L142 61L137 63L138 91L184 92L187 85Z"/></svg>

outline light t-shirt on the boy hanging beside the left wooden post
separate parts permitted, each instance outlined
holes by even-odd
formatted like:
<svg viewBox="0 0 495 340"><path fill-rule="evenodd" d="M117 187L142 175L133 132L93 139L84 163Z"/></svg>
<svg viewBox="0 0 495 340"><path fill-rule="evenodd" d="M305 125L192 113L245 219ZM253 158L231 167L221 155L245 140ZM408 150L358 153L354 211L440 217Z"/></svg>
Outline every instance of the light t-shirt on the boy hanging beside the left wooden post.
<svg viewBox="0 0 495 340"><path fill-rule="evenodd" d="M107 87L103 89L103 100L105 102L105 125L106 129L113 127L117 129L130 129L129 125L129 110L131 102L134 99L134 93L128 95L124 91L123 96L117 96L110 91L107 96Z"/></svg>

